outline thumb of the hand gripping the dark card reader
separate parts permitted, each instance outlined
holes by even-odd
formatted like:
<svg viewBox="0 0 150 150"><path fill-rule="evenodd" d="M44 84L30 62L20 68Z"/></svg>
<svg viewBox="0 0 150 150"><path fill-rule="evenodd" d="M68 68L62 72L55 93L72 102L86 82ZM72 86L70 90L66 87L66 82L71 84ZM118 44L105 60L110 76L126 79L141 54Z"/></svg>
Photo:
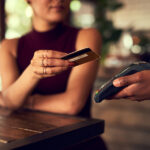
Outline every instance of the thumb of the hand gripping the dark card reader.
<svg viewBox="0 0 150 150"><path fill-rule="evenodd" d="M127 86L133 83L140 82L143 79L143 72L138 72L132 75L120 77L113 81L113 85L116 87Z"/></svg>

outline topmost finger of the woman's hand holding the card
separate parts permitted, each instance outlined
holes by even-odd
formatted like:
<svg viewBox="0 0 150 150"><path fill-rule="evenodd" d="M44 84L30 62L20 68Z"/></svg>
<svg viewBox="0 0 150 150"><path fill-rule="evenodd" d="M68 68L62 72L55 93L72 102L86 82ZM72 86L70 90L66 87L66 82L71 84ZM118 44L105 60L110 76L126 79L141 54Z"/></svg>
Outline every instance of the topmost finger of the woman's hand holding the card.
<svg viewBox="0 0 150 150"><path fill-rule="evenodd" d="M35 58L61 58L67 53L54 50L38 50L34 53Z"/></svg>

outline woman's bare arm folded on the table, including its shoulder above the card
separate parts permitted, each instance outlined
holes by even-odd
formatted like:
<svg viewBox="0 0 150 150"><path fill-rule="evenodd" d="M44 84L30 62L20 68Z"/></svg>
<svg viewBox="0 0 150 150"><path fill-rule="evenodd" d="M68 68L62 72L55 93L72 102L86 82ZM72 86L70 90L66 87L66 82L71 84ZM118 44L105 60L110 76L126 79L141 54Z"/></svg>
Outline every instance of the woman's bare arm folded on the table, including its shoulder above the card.
<svg viewBox="0 0 150 150"><path fill-rule="evenodd" d="M101 37L97 30L85 29L79 32L76 49L85 47L91 48L97 54L100 53ZM32 109L72 115L80 112L92 88L98 64L99 61L92 61L74 67L66 92L47 96L34 95L30 99Z"/></svg>

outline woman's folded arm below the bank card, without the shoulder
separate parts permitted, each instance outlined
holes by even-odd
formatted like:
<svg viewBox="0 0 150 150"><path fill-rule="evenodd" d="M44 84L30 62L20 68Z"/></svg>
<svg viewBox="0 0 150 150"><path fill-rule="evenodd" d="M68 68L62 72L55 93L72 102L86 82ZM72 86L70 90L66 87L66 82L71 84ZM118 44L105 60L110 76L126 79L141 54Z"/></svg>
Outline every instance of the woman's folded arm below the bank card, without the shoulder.
<svg viewBox="0 0 150 150"><path fill-rule="evenodd" d="M78 114L86 104L96 76L97 67L98 62L95 61L74 68L65 92L45 96L33 95L30 101L31 109L60 114ZM84 73L80 70L83 70ZM92 72L89 74L91 70Z"/></svg>

